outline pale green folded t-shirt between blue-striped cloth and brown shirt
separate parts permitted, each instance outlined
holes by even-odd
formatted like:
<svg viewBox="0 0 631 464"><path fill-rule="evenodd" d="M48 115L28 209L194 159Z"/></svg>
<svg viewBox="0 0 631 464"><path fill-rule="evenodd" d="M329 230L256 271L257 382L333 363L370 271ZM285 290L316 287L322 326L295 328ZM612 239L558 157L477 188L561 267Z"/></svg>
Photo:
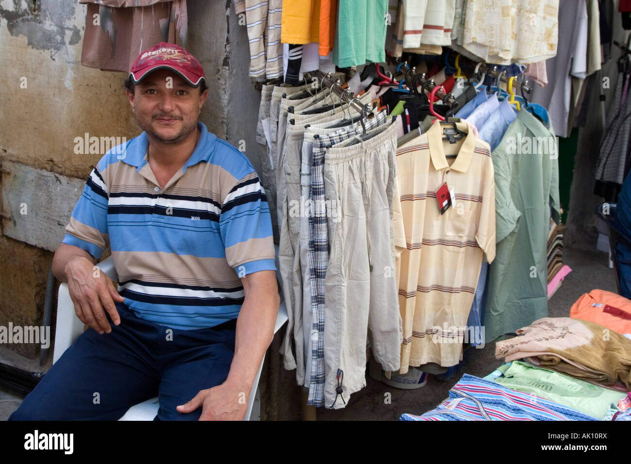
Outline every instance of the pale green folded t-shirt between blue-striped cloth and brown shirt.
<svg viewBox="0 0 631 464"><path fill-rule="evenodd" d="M493 379L511 390L533 393L546 400L574 408L602 419L610 403L617 404L627 396L620 391L610 390L586 381L575 379L559 372L550 371L521 361L498 367L503 377Z"/></svg>

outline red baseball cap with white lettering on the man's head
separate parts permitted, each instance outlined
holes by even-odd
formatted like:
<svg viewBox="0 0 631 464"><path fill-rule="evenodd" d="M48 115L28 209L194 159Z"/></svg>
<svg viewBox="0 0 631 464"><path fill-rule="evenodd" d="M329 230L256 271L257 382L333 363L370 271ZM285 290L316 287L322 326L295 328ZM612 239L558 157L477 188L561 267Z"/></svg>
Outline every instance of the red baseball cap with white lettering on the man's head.
<svg viewBox="0 0 631 464"><path fill-rule="evenodd" d="M144 76L156 69L172 69L197 88L201 80L206 80L204 69L199 61L180 45L160 42L141 52L129 71L129 76L138 84Z"/></svg>

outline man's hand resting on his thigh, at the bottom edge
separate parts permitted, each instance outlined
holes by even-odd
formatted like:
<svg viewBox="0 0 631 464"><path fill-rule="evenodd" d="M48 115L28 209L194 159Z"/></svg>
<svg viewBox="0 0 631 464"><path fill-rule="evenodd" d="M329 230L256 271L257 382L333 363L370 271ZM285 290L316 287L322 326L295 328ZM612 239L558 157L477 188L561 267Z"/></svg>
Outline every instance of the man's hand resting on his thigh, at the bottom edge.
<svg viewBox="0 0 631 464"><path fill-rule="evenodd" d="M181 413L189 413L201 406L199 420L243 420L247 412L249 397L249 390L225 382L199 391L192 400L178 406L177 410Z"/></svg>

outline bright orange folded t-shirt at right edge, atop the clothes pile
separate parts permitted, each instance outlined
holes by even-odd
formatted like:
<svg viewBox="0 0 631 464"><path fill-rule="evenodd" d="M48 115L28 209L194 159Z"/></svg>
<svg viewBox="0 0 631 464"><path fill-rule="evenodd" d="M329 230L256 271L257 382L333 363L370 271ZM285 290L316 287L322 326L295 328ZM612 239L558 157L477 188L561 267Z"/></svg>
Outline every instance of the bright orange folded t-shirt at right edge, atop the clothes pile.
<svg viewBox="0 0 631 464"><path fill-rule="evenodd" d="M618 333L631 333L631 319L604 312L606 305L621 309L631 316L631 300L606 290L592 290L572 305L570 318L595 322Z"/></svg>

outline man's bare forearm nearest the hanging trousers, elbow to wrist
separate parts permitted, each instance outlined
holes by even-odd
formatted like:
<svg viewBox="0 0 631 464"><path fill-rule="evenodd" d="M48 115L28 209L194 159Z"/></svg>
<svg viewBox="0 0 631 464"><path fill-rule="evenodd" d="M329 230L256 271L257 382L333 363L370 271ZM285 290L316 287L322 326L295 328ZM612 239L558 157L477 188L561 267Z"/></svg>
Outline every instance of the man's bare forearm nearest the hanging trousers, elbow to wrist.
<svg viewBox="0 0 631 464"><path fill-rule="evenodd" d="M276 287L276 277L267 278L265 285L257 285L247 289L245 300L237 319L235 338L235 355L230 365L227 383L241 388L249 396L256 372L272 339L274 323L280 297Z"/></svg>

